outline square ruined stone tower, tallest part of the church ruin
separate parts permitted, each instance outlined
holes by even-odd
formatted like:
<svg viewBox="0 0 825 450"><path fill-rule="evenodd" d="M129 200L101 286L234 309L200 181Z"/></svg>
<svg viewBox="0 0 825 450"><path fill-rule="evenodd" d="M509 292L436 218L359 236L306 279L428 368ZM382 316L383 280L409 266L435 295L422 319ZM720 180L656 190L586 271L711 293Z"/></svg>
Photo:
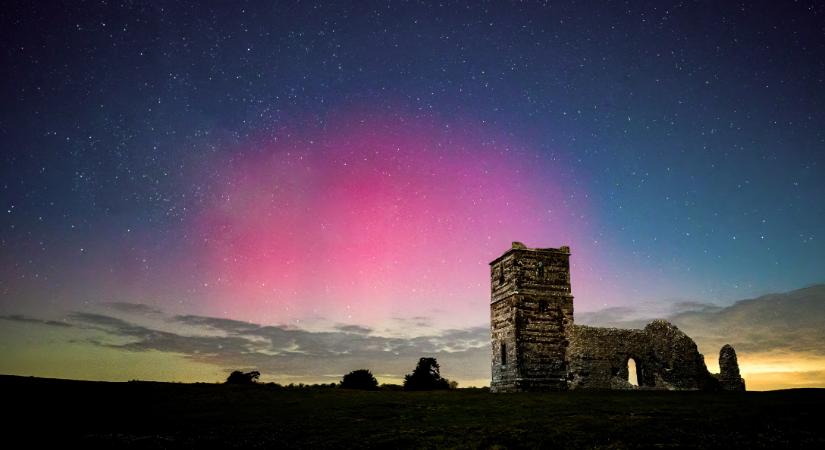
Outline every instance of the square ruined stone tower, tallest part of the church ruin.
<svg viewBox="0 0 825 450"><path fill-rule="evenodd" d="M514 242L490 269L491 391L567 389L570 248Z"/></svg>

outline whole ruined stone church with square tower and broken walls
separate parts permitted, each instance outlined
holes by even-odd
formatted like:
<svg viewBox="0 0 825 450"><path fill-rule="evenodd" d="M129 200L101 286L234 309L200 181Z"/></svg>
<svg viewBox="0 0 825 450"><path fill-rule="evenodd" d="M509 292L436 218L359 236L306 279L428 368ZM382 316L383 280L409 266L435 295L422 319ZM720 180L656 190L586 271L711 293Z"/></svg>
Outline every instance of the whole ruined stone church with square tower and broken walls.
<svg viewBox="0 0 825 450"><path fill-rule="evenodd" d="M722 347L721 373L711 374L693 339L665 320L641 330L575 325L569 247L514 242L490 274L492 392L745 390L733 347Z"/></svg>

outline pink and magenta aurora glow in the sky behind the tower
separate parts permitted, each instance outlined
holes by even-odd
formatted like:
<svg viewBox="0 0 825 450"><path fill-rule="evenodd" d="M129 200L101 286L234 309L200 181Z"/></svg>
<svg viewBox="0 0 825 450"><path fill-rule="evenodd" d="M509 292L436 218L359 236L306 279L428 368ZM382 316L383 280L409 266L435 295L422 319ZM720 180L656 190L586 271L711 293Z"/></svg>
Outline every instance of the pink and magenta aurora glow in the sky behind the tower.
<svg viewBox="0 0 825 450"><path fill-rule="evenodd" d="M246 145L196 219L211 307L232 317L483 323L512 240L576 252L587 231L558 167L470 121L350 113Z"/></svg>

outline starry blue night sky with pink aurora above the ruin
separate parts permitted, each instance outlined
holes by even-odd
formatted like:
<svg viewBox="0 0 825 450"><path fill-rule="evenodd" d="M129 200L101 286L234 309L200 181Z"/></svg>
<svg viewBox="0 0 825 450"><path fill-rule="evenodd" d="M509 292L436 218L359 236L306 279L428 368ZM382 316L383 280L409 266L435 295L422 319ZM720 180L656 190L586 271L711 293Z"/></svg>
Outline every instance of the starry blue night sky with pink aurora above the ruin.
<svg viewBox="0 0 825 450"><path fill-rule="evenodd" d="M571 247L580 312L825 281L817 2L12 2L0 34L5 373L487 352L511 241Z"/></svg>

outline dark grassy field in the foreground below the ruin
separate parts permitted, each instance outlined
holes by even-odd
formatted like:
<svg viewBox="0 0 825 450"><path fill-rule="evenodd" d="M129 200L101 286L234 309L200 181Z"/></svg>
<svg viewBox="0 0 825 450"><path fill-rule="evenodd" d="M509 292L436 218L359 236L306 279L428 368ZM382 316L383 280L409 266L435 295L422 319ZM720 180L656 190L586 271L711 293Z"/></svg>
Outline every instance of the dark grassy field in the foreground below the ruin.
<svg viewBox="0 0 825 450"><path fill-rule="evenodd" d="M825 390L358 392L0 377L6 441L66 448L817 447Z"/></svg>

